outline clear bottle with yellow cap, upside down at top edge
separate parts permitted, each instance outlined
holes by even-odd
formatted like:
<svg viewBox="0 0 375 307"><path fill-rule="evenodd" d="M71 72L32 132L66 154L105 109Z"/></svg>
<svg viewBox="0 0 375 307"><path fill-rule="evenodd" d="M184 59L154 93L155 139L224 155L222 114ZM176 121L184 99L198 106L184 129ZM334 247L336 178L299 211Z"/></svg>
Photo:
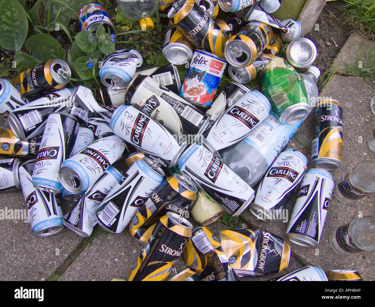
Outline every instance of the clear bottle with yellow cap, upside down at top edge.
<svg viewBox="0 0 375 307"><path fill-rule="evenodd" d="M127 18L139 21L142 30L152 30L154 23L151 17L156 13L155 0L116 0L118 7Z"/></svg>

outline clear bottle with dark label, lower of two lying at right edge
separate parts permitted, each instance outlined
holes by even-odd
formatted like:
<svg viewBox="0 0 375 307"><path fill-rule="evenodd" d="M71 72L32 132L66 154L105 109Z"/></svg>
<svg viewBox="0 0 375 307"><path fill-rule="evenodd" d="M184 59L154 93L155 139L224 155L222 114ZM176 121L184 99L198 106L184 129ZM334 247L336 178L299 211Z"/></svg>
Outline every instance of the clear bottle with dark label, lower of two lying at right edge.
<svg viewBox="0 0 375 307"><path fill-rule="evenodd" d="M375 216L364 216L332 231L330 243L341 255L375 250Z"/></svg>

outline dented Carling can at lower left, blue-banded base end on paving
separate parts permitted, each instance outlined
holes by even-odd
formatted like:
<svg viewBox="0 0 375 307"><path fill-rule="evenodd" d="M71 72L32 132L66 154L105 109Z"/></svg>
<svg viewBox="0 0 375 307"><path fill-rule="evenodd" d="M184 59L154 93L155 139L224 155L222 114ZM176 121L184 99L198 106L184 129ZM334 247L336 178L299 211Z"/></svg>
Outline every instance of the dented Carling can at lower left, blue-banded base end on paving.
<svg viewBox="0 0 375 307"><path fill-rule="evenodd" d="M38 237L53 235L64 228L63 211L57 194L36 189L31 174L35 160L23 163L19 168L20 183L25 199L31 229Z"/></svg>

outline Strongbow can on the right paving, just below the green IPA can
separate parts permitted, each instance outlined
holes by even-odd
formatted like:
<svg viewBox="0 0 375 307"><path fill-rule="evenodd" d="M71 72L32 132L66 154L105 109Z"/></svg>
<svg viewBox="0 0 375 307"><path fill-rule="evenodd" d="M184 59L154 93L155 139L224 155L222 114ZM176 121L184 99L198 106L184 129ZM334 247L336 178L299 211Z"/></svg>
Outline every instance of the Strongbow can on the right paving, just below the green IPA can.
<svg viewBox="0 0 375 307"><path fill-rule="evenodd" d="M315 168L334 171L342 165L343 120L340 102L323 99L313 109L314 139L311 163Z"/></svg>

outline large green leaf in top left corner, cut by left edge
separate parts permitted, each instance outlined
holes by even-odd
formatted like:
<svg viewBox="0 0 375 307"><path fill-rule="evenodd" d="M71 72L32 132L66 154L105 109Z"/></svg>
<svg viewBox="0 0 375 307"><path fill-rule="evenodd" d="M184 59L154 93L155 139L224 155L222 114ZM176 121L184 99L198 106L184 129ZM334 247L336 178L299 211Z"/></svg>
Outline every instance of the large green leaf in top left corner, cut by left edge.
<svg viewBox="0 0 375 307"><path fill-rule="evenodd" d="M25 9L17 0L2 0L0 12L0 45L17 52L27 36L28 20Z"/></svg>

